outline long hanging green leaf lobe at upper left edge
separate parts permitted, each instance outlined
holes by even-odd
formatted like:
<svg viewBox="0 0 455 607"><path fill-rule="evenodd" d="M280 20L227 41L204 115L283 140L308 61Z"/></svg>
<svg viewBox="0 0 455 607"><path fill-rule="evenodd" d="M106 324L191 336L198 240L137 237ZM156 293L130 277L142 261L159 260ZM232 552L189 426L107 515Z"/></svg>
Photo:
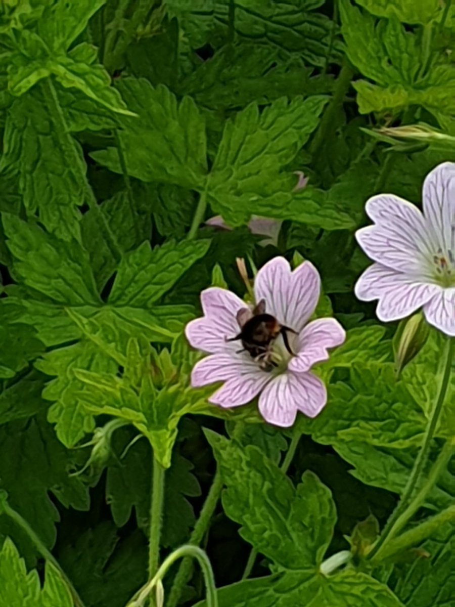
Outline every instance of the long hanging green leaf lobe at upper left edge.
<svg viewBox="0 0 455 607"><path fill-rule="evenodd" d="M48 231L65 240L80 240L81 176L66 160L61 134L38 88L12 104L4 137L1 166L18 174L27 214L38 211Z"/></svg>

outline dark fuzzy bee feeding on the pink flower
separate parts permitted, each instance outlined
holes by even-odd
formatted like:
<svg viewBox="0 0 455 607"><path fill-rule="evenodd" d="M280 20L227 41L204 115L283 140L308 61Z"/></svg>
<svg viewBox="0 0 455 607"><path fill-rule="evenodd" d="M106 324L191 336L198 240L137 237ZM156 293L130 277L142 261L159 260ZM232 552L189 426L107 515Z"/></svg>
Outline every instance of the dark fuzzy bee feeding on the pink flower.
<svg viewBox="0 0 455 607"><path fill-rule="evenodd" d="M289 345L287 332L295 334L297 332L281 325L272 314L266 313L265 299L261 299L252 311L241 308L237 312L237 322L240 333L235 337L226 338L226 341L240 340L243 347L238 352L248 352L255 361L259 362L263 370L271 371L272 368L278 366L272 358L271 347L280 334L283 336L286 350L291 356L295 356Z"/></svg>

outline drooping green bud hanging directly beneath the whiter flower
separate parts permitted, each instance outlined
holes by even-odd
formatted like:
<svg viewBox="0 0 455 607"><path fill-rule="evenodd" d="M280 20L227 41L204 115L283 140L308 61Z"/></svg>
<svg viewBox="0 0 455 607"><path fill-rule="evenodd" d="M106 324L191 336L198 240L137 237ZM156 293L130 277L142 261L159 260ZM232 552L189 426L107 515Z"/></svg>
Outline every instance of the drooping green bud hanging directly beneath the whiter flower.
<svg viewBox="0 0 455 607"><path fill-rule="evenodd" d="M426 324L422 312L400 322L392 342L397 377L414 356L422 350L429 332L430 328Z"/></svg>

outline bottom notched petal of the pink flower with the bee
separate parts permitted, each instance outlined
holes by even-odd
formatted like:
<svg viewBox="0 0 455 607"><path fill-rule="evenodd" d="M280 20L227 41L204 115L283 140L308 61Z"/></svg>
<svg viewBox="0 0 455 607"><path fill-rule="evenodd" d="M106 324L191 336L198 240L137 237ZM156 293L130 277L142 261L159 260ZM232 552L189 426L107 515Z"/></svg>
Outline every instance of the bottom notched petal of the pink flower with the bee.
<svg viewBox="0 0 455 607"><path fill-rule="evenodd" d="M312 373L285 373L272 379L259 397L259 410L270 424L289 427L297 410L315 417L327 401L323 382Z"/></svg>

